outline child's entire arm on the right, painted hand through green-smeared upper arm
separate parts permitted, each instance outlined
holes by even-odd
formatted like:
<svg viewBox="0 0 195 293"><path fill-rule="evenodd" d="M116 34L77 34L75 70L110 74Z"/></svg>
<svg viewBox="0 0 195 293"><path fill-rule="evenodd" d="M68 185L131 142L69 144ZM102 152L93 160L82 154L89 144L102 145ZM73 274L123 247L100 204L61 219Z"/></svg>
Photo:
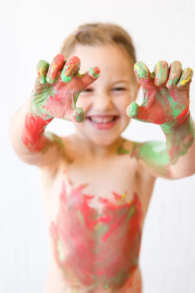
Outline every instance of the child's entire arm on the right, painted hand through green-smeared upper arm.
<svg viewBox="0 0 195 293"><path fill-rule="evenodd" d="M135 68L144 101L140 106L131 104L128 114L139 121L160 125L166 143L136 144L133 154L156 177L178 179L193 175L195 125L189 111L192 69L182 71L181 64L174 62L168 70L164 61L156 63L152 74L144 63L137 63Z"/></svg>

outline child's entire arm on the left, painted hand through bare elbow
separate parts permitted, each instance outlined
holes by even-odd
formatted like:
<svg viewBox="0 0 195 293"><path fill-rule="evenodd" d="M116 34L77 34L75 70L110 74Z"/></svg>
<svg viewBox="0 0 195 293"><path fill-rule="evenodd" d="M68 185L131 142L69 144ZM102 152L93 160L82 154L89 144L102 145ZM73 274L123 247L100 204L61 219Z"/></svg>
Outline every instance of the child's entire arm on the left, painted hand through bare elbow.
<svg viewBox="0 0 195 293"><path fill-rule="evenodd" d="M78 57L66 62L62 54L51 65L39 61L30 101L14 114L9 126L12 146L24 162L51 166L59 154L64 155L60 138L44 130L55 117L78 123L85 119L83 109L76 107L78 96L98 78L100 71L93 67L80 75L79 68Z"/></svg>

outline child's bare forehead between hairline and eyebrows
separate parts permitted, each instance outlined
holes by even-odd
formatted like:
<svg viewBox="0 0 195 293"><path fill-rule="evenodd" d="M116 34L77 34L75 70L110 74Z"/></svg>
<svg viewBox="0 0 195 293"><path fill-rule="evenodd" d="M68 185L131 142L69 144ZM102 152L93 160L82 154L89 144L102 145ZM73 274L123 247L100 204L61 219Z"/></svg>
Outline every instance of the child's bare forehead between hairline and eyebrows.
<svg viewBox="0 0 195 293"><path fill-rule="evenodd" d="M130 57L117 45L77 45L72 55L78 56L81 61L80 73L98 66L101 71L99 80L103 79L106 82L134 78Z"/></svg>

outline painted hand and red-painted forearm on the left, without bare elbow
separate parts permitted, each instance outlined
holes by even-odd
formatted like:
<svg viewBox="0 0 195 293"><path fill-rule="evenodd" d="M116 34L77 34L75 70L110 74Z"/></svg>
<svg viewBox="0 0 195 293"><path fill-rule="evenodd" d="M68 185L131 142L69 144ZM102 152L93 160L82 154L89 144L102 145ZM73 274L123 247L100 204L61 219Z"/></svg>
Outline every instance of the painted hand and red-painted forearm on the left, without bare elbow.
<svg viewBox="0 0 195 293"><path fill-rule="evenodd" d="M92 67L79 74L79 69L78 57L71 57L66 62L62 54L57 55L51 64L44 60L37 64L31 111L26 115L22 133L22 141L30 151L44 153L51 146L52 141L43 132L54 118L78 123L85 119L83 109L76 106L78 96L97 80L100 70Z"/></svg>

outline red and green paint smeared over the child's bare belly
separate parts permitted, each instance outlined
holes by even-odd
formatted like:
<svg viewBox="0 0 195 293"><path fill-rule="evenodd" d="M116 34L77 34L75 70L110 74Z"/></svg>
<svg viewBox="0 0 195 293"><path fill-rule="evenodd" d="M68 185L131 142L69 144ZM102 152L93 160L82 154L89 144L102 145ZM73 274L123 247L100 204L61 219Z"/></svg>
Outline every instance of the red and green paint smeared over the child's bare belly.
<svg viewBox="0 0 195 293"><path fill-rule="evenodd" d="M136 192L133 200L116 192L112 200L99 197L98 212L90 206L94 196L85 194L85 188L71 187L67 192L63 183L57 220L50 227L58 266L72 288L131 288L141 240L139 197Z"/></svg>

